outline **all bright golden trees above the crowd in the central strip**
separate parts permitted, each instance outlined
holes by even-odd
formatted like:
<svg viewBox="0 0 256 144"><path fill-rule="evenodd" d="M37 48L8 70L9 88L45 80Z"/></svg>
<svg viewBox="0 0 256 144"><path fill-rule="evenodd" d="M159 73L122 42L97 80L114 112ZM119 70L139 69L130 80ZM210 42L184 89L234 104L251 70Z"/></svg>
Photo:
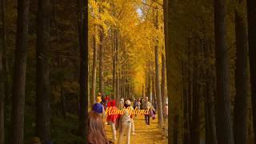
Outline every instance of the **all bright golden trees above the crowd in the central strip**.
<svg viewBox="0 0 256 144"><path fill-rule="evenodd" d="M166 66L161 2L90 1L90 105L95 94L114 99L148 96L166 102Z"/></svg>

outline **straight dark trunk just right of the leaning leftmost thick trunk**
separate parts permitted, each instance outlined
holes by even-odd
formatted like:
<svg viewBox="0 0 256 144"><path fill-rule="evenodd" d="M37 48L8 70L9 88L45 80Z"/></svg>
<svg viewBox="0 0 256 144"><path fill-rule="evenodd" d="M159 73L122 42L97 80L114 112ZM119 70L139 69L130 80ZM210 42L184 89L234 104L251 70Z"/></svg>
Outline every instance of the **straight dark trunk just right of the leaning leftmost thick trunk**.
<svg viewBox="0 0 256 144"><path fill-rule="evenodd" d="M36 135L50 141L50 0L38 0Z"/></svg>

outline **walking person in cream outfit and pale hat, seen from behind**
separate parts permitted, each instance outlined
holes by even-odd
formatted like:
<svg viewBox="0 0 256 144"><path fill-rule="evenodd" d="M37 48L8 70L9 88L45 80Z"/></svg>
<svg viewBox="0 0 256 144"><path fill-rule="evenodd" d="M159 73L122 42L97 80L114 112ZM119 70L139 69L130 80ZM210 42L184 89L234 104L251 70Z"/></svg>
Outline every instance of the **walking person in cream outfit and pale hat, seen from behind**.
<svg viewBox="0 0 256 144"><path fill-rule="evenodd" d="M122 144L122 138L126 132L126 144L130 144L130 127L131 127L131 118L130 113L127 110L130 107L130 100L126 100L124 104L125 110L124 114L121 116L121 127L120 134L118 138L118 144Z"/></svg>

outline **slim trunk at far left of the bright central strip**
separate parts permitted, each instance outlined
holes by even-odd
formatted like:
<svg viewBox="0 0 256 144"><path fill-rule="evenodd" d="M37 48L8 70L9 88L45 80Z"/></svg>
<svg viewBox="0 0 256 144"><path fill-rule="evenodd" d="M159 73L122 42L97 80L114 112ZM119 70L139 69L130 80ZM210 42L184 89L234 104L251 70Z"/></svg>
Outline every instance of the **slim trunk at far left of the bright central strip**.
<svg viewBox="0 0 256 144"><path fill-rule="evenodd" d="M97 27L95 27L95 34L97 34ZM94 57L93 57L93 70L92 70L92 82L91 82L91 99L90 99L90 106L93 106L94 102L95 102L95 97L96 97L96 76L97 76L97 44L96 44L96 38L94 35Z"/></svg>

